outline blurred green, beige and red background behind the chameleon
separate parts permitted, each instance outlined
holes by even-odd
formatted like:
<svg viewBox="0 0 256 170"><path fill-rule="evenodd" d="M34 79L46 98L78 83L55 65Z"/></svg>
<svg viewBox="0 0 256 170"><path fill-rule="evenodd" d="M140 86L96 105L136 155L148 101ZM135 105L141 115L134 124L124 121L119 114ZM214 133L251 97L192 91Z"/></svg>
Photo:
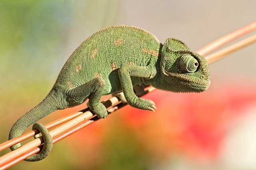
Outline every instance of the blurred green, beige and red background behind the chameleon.
<svg viewBox="0 0 256 170"><path fill-rule="evenodd" d="M134 25L162 43L174 37L196 51L253 22L255 6L254 0L1 0L0 143L94 32ZM126 106L54 144L46 159L10 169L256 169L255 54L256 44L210 64L211 86L203 93L156 90L145 96L156 112ZM40 122L84 107L56 111Z"/></svg>

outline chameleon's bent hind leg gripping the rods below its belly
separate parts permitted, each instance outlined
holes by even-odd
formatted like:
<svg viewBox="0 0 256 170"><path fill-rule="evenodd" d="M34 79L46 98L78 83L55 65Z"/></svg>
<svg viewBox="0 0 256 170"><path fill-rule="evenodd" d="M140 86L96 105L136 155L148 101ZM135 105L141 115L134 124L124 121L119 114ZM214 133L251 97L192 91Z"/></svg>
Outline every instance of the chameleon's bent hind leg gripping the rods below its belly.
<svg viewBox="0 0 256 170"><path fill-rule="evenodd" d="M98 76L89 82L70 90L68 93L69 106L82 104L89 98L88 106L99 118L106 118L108 112L106 107L100 102L104 90L105 80Z"/></svg>

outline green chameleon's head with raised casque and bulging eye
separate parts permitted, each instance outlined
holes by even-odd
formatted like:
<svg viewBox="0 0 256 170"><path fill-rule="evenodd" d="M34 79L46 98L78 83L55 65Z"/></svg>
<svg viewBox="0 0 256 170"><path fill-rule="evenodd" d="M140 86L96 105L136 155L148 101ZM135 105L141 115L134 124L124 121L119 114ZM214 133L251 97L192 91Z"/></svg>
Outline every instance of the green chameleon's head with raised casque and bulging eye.
<svg viewBox="0 0 256 170"><path fill-rule="evenodd" d="M183 42L169 38L161 52L161 78L164 90L173 92L202 92L210 86L206 60L189 51Z"/></svg>

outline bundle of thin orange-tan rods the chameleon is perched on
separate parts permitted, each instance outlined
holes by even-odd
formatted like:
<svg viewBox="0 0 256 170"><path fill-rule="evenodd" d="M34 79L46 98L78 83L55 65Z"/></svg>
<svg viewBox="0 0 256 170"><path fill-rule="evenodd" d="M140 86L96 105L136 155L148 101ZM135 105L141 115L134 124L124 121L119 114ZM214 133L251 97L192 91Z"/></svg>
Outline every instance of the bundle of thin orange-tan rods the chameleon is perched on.
<svg viewBox="0 0 256 170"><path fill-rule="evenodd" d="M248 46L248 45L256 42L256 34L249 36L248 38L246 38L244 40L236 42L235 44L232 44L226 48L223 48L222 50L214 52L208 56L206 56L206 54L209 54L210 52L216 50L217 48L220 48L221 46L224 46L225 44L228 44L229 42L232 42L233 40L236 40L237 38L240 38L241 36L244 36L245 34L252 32L253 30L256 30L256 21L254 21L246 26L243 26L242 28L239 28L238 30L235 30L234 32L231 32L230 34L227 34L226 36L223 36L222 38L219 38L218 40L215 40L214 42L208 44L207 46L204 46L203 48L199 49L197 51L197 53L200 54L201 56L205 56L208 64L215 62L217 60L220 60L221 58L227 56L228 54L235 52L241 48L244 48L245 46ZM155 88L153 88L152 86L148 86L145 88L144 94L147 94L154 90L155 90ZM109 98L108 100L105 100L103 102L103 104L107 108L108 114L111 114L111 113L115 112L116 110L127 105L127 104L122 103L115 96ZM74 112L68 116L64 116L64 117L62 117L58 120L55 120L53 122L50 122L50 123L46 124L45 126L47 129L50 129L50 128L56 127L61 124L57 128L54 128L53 130L49 131L50 135L53 138L53 143L56 143L59 140L66 138L70 134L73 134L74 132L81 130L82 128L92 124L93 122L96 122L97 120L100 120L100 118L98 118L93 112L91 112L89 108L85 108L78 112ZM17 138L8 140L8 141L0 144L0 151L4 150L6 148L9 148L10 146L12 146L14 144L22 142L23 140L26 140L38 133L39 133L38 130L32 130L32 131L27 132ZM43 145L43 139L42 139L42 136L40 136L40 137L32 140L31 142L24 144L20 148L1 156L0 157L0 170L7 169L10 166L13 166L14 164L17 164L18 162L28 158L29 156L40 152L42 145Z"/></svg>

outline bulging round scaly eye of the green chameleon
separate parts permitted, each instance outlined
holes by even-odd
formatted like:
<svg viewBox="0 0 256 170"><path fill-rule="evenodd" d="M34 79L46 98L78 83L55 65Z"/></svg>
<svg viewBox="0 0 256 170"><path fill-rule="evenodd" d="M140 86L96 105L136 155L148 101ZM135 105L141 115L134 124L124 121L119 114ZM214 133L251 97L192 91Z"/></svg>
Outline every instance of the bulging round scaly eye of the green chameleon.
<svg viewBox="0 0 256 170"><path fill-rule="evenodd" d="M185 54L180 58L180 69L184 72L195 72L198 66L198 60L189 54Z"/></svg>

